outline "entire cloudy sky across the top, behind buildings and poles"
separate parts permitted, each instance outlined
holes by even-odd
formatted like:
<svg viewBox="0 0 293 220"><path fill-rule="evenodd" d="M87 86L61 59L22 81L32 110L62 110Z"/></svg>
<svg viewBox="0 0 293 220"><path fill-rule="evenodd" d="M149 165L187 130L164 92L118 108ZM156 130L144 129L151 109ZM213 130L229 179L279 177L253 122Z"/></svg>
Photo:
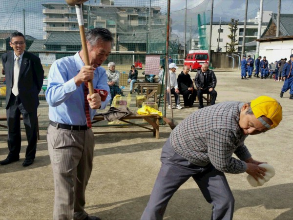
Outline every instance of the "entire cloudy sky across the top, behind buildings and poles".
<svg viewBox="0 0 293 220"><path fill-rule="evenodd" d="M25 10L25 31L37 39L42 39L42 3L65 0L0 0L0 30L18 30L24 32L23 9ZM98 5L99 0L86 3ZM167 10L167 0L115 0L116 5L124 6L160 6ZM181 40L184 38L185 4L187 2L187 36L194 38L197 33L197 15L205 12L206 21L210 20L211 0L171 0L172 34ZM230 21L231 18L244 20L246 0L214 0L213 21ZM254 18L259 9L260 0L249 0L247 18ZM264 0L263 10L277 13L278 0ZM281 13L293 14L293 0L281 1Z"/></svg>

